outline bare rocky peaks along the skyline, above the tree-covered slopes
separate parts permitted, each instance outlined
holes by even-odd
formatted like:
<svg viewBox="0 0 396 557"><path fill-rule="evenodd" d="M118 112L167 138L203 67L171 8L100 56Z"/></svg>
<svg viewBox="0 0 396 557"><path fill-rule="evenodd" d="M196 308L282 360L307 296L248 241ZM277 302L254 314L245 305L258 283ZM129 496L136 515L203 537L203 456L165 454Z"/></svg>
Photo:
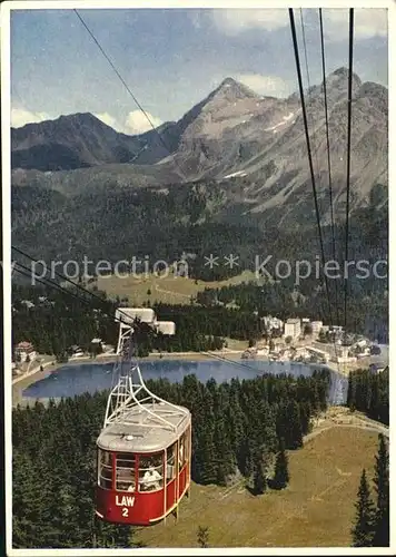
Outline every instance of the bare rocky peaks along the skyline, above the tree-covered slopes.
<svg viewBox="0 0 396 557"><path fill-rule="evenodd" d="M328 72L326 78L331 175L339 206L344 203L346 173L348 76L348 69L341 67ZM356 203L364 203L373 184L386 185L388 179L388 90L378 84L362 84L355 74L353 85L355 174L352 179L356 184ZM309 130L317 137L317 165L319 172L327 173L323 84L307 91L306 108ZM60 126L61 121L65 125ZM129 137L90 114L32 124L12 129L12 168L47 172L133 160L128 168L122 168L122 173L135 176L137 172L141 175L139 179L146 183L142 165L152 165L150 179L152 168L155 172L158 168L159 183L168 184L180 179L175 175L177 165L191 180L240 180L238 187L246 188L244 195L257 205L255 211L268 212L273 219L281 214L280 209L274 212L276 206L286 204L291 213L303 197L308 203L307 149L298 92L287 99L263 97L227 77L180 120L164 125L160 133L167 148L152 130ZM161 164L156 166L157 163ZM103 168L105 172L108 170ZM116 180L121 179L119 170L112 172ZM326 195L325 189L323 195ZM326 197L324 203L327 203ZM288 218L288 213L281 215Z"/></svg>

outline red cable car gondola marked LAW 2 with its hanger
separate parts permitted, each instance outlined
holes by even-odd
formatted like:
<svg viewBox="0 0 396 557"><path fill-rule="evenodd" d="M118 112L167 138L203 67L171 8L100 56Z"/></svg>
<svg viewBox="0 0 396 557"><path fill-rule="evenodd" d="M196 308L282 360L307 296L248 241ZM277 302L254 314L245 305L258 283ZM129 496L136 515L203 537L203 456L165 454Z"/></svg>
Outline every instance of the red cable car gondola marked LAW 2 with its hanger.
<svg viewBox="0 0 396 557"><path fill-rule="evenodd" d="M164 334L175 334L175 323L156 321L148 309L122 307L116 319L119 360L97 440L96 514L109 522L149 526L177 516L189 494L191 414L149 391L132 356L136 320Z"/></svg>

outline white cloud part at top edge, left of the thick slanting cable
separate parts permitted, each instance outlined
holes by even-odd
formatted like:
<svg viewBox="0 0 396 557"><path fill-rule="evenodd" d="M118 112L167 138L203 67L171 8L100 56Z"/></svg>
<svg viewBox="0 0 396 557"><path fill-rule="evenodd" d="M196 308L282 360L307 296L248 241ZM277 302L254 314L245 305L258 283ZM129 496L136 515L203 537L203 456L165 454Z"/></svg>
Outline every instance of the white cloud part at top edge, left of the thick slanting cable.
<svg viewBox="0 0 396 557"><path fill-rule="evenodd" d="M238 35L255 28L275 31L289 25L289 16L286 9L217 9L212 10L212 18L216 26L227 35Z"/></svg>

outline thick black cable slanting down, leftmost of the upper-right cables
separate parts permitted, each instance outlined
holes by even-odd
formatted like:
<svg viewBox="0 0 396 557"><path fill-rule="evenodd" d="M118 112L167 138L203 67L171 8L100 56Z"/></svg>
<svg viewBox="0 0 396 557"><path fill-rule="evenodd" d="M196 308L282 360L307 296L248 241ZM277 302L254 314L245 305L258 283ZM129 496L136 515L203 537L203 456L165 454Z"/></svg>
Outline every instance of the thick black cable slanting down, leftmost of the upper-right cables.
<svg viewBox="0 0 396 557"><path fill-rule="evenodd" d="M306 137L306 143L307 143L307 150L308 150L310 179L311 179L311 184L313 184L316 224L317 224L317 228L318 228L319 245L320 245L320 253L321 253L321 264L325 267L325 264L326 264L325 250L324 250L324 242L323 242L323 235L321 235L318 197L317 197L317 192L316 192L315 172L314 172L314 165L313 165L313 154L311 154L310 140L309 140L308 120L307 120L307 113L306 113L306 107L305 107L305 97L304 97L303 78L301 78L301 67L300 67L300 60L299 60L299 53L298 53L297 33L296 33L296 25L295 25L293 8L289 8L289 18L290 18L293 46L294 46L295 58L296 58L298 87L299 87L299 94L300 94L300 99L301 99L301 110L303 110L305 137ZM327 281L326 273L325 273L325 287L326 287L327 302L328 302L328 312L329 312L330 323L333 326L333 311L331 311L330 295L329 295L328 281Z"/></svg>

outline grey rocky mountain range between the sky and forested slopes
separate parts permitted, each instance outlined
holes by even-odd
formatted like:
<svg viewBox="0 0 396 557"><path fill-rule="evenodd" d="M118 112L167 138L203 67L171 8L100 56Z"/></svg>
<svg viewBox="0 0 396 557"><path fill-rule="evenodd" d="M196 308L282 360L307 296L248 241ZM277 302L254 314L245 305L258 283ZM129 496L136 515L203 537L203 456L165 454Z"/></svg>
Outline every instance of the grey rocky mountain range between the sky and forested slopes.
<svg viewBox="0 0 396 557"><path fill-rule="evenodd" d="M348 70L326 79L331 185L336 217L344 215L347 173ZM324 222L329 177L324 84L306 91L313 164ZM388 183L388 91L353 76L352 209L367 206L376 184ZM111 187L216 182L224 209L271 224L304 223L314 214L299 95L261 96L225 79L178 121L137 136L117 133L89 113L11 129L12 185L70 196ZM386 203L383 198L382 203Z"/></svg>

